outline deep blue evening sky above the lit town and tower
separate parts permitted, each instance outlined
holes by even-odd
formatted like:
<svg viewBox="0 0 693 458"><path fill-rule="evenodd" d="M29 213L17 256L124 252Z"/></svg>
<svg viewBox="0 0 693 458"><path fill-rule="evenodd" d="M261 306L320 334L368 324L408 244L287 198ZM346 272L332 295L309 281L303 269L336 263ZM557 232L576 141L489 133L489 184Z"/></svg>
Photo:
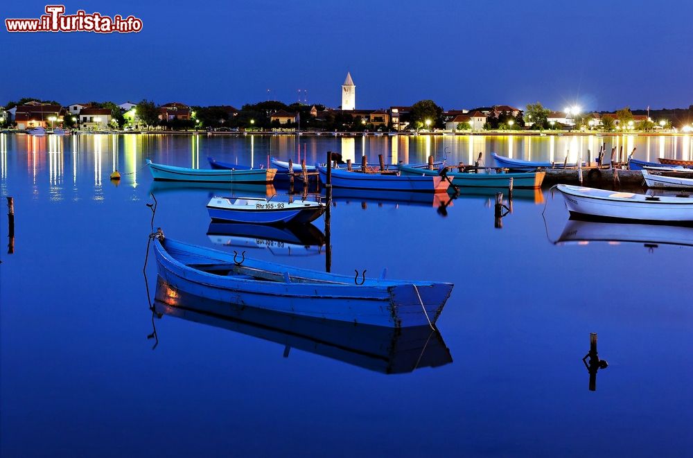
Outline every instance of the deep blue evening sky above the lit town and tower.
<svg viewBox="0 0 693 458"><path fill-rule="evenodd" d="M608 1L67 1L134 15L141 33L0 32L0 103L22 96L191 105L271 98L446 109L693 104L693 3ZM45 2L3 4L2 19ZM302 98L302 96L301 96Z"/></svg>

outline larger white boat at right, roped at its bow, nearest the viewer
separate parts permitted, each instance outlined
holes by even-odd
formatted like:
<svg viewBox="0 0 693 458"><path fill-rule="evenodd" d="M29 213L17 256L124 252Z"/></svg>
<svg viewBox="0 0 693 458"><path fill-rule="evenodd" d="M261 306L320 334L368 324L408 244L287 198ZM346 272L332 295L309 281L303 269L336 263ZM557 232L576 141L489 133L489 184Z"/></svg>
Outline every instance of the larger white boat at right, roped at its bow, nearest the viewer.
<svg viewBox="0 0 693 458"><path fill-rule="evenodd" d="M568 211L618 220L693 223L693 197L669 197L606 191L558 184Z"/></svg>

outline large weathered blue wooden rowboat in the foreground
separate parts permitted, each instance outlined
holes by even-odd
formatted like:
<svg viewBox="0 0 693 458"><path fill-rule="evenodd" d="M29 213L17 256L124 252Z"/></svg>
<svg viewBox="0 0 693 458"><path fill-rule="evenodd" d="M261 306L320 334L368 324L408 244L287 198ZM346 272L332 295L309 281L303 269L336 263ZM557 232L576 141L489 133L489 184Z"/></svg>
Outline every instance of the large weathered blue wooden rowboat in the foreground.
<svg viewBox="0 0 693 458"><path fill-rule="evenodd" d="M435 324L452 283L359 279L154 240L159 276L173 291L287 315L408 328Z"/></svg>

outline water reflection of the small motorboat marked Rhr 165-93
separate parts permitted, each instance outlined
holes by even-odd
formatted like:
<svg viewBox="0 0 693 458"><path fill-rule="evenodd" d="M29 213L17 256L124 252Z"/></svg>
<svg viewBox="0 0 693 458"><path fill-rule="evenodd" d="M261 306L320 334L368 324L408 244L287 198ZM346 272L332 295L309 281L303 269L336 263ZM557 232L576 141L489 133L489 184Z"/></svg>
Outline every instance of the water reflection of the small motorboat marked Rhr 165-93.
<svg viewBox="0 0 693 458"><path fill-rule="evenodd" d="M314 224L270 226L235 222L211 222L207 229L211 243L240 249L269 249L275 256L322 254L325 234Z"/></svg>

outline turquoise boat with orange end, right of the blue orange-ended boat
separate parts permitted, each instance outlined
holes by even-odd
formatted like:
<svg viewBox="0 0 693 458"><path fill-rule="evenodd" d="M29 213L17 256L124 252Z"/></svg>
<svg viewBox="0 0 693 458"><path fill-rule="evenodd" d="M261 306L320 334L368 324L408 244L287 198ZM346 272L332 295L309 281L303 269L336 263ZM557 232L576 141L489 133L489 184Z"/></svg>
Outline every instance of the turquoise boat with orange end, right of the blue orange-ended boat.
<svg viewBox="0 0 693 458"><path fill-rule="evenodd" d="M430 176L440 175L439 170L423 168L421 166L401 165L399 170L402 175ZM508 188L510 179L513 179L513 188L541 188L544 181L544 172L520 172L520 173L468 173L451 172L448 177L453 180L454 186L469 188ZM450 190L450 188L448 188Z"/></svg>

